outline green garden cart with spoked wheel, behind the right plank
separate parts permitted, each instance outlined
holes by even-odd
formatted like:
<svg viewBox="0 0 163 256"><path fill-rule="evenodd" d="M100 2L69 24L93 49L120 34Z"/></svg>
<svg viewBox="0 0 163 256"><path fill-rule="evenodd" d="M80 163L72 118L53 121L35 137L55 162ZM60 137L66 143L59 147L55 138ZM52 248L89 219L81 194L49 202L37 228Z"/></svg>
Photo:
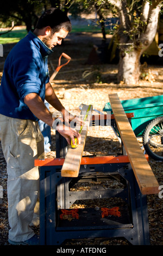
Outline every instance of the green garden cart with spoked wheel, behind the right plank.
<svg viewBox="0 0 163 256"><path fill-rule="evenodd" d="M154 160L163 161L163 95L121 101L126 113L133 112L131 126L137 138L142 137L146 153ZM104 112L111 111L110 102ZM118 129L114 129L119 138Z"/></svg>

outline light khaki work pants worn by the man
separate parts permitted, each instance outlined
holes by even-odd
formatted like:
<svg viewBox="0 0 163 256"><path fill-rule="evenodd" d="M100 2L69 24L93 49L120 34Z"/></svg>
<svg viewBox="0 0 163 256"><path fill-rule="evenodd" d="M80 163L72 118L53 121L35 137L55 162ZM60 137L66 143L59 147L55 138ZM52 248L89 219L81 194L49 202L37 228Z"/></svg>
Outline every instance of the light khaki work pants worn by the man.
<svg viewBox="0 0 163 256"><path fill-rule="evenodd" d="M24 241L34 235L29 227L39 196L34 160L44 158L43 136L38 122L0 114L0 138L8 172L9 239Z"/></svg>

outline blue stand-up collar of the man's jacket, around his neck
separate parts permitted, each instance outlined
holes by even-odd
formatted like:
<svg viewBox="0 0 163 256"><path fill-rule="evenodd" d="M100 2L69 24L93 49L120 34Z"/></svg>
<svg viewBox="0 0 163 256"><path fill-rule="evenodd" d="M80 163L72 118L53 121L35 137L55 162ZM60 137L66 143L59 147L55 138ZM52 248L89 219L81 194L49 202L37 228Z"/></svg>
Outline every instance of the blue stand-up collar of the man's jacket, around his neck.
<svg viewBox="0 0 163 256"><path fill-rule="evenodd" d="M33 39L35 45L39 48L40 53L41 53L41 55L42 55L43 58L46 57L46 56L49 56L51 53L53 53L53 51L52 51L50 48L48 48L48 47L40 40L40 38L38 38L38 37L33 33L32 30L30 30L28 34L29 34L30 38Z"/></svg>

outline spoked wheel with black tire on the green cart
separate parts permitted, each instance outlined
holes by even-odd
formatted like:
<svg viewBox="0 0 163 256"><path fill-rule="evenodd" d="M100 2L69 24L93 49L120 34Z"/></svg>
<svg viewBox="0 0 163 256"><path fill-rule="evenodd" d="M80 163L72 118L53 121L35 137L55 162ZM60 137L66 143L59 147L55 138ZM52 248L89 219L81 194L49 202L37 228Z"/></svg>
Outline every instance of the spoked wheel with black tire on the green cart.
<svg viewBox="0 0 163 256"><path fill-rule="evenodd" d="M163 117L151 121L143 133L143 146L154 160L163 161Z"/></svg>

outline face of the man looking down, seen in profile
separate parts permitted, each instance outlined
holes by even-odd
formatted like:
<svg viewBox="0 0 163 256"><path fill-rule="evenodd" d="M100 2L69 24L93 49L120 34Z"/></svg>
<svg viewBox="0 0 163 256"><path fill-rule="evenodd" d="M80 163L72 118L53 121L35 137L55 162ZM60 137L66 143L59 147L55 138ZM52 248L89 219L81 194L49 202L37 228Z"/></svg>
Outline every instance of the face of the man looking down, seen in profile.
<svg viewBox="0 0 163 256"><path fill-rule="evenodd" d="M54 34L47 35L42 39L42 42L52 50L52 48L56 45L61 45L62 39L66 38L68 31L61 28L59 32L55 32Z"/></svg>

